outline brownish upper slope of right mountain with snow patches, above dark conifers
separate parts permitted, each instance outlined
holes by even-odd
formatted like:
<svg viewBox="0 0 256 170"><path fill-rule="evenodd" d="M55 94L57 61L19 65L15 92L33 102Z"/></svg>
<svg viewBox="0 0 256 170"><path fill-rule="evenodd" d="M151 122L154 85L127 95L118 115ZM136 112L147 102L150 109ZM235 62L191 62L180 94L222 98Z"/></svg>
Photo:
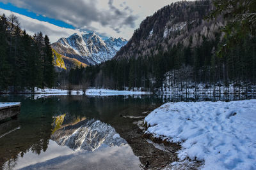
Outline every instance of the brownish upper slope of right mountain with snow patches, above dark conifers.
<svg viewBox="0 0 256 170"><path fill-rule="evenodd" d="M164 6L141 22L115 59L155 56L170 51L174 45L193 48L202 45L204 39L215 40L225 21L222 17L205 19L213 8L210 1L182 1Z"/></svg>

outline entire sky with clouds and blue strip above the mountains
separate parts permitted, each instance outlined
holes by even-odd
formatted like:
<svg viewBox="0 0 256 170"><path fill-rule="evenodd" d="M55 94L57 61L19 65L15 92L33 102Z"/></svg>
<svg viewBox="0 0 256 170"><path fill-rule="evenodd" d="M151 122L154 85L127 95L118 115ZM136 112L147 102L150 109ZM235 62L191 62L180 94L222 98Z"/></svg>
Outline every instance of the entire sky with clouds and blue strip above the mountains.
<svg viewBox="0 0 256 170"><path fill-rule="evenodd" d="M29 34L42 31L51 42L94 31L131 38L147 16L177 0L0 0L0 14L17 15Z"/></svg>

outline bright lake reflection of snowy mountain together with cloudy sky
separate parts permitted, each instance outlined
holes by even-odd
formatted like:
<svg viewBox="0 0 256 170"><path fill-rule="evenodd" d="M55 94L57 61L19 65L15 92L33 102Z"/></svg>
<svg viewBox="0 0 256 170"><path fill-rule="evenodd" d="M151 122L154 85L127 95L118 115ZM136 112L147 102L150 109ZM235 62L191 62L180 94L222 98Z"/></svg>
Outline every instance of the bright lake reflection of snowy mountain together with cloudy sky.
<svg viewBox="0 0 256 170"><path fill-rule="evenodd" d="M63 125L64 119L65 114L54 117L47 150L30 148L3 169L140 169L138 157L110 125L87 118Z"/></svg>

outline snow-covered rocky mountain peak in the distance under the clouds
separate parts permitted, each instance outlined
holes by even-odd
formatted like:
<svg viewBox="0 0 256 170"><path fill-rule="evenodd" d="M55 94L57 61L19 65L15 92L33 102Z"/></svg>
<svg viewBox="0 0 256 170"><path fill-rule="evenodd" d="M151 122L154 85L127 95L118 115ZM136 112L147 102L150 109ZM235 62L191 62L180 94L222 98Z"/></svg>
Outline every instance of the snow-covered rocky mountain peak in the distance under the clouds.
<svg viewBox="0 0 256 170"><path fill-rule="evenodd" d="M81 35L75 33L68 38L60 38L52 44L52 48L61 55L94 65L112 59L126 43L124 38L103 40L95 32Z"/></svg>

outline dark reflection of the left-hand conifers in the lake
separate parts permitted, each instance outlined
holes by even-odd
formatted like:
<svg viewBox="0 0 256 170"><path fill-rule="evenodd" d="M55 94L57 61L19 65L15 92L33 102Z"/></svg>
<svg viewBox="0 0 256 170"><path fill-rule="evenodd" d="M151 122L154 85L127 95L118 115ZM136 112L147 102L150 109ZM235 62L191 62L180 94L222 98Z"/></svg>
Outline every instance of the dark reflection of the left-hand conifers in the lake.
<svg viewBox="0 0 256 170"><path fill-rule="evenodd" d="M36 154L45 152L49 144L54 109L51 105L52 101L45 99L21 101L22 108L17 121L20 129L0 138L0 167L4 162L7 166L9 163L15 164L19 154L23 157L29 151ZM6 124L10 123L6 122ZM13 128L17 127L17 124L13 125Z"/></svg>

